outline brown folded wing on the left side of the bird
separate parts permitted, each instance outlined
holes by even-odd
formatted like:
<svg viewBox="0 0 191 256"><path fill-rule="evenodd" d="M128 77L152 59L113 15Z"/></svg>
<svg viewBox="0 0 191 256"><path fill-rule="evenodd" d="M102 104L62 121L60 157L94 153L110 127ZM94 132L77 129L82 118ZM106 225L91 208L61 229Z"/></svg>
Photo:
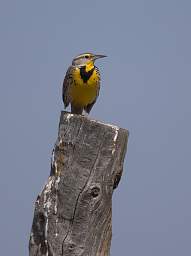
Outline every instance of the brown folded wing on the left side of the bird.
<svg viewBox="0 0 191 256"><path fill-rule="evenodd" d="M73 66L70 66L68 68L68 70L66 72L66 75L65 75L65 78L64 78L64 81L63 81L62 99L63 99L65 108L70 103L70 93L69 93L69 90L70 90L70 86L73 83L73 78L72 78L73 70L74 70Z"/></svg>

